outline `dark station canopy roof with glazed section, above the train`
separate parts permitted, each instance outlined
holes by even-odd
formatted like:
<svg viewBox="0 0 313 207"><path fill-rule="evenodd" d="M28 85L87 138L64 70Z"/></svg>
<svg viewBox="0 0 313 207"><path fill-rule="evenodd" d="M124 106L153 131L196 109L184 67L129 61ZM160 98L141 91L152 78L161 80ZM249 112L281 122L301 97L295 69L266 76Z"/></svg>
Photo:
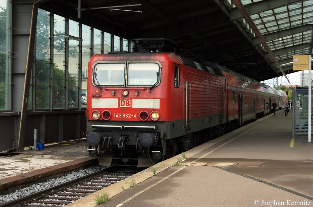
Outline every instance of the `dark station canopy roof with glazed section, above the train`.
<svg viewBox="0 0 313 207"><path fill-rule="evenodd" d="M80 18L79 4L39 7L130 40L171 39L258 81L296 72L293 55L312 54L313 0L81 0Z"/></svg>

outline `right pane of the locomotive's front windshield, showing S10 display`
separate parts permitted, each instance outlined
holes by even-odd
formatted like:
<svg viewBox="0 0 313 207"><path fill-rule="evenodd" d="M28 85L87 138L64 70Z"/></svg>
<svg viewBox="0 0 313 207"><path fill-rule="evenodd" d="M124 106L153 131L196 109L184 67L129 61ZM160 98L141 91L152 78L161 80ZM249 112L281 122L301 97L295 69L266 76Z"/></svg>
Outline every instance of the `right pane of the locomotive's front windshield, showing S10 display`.
<svg viewBox="0 0 313 207"><path fill-rule="evenodd" d="M127 85L157 85L159 68L156 63L129 63Z"/></svg>

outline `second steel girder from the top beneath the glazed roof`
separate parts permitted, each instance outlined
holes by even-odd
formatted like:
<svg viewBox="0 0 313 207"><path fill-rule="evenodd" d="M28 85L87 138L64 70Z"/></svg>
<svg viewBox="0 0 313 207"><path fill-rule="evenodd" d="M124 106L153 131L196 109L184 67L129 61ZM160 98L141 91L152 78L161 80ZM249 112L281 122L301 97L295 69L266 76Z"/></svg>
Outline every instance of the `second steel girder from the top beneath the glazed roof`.
<svg viewBox="0 0 313 207"><path fill-rule="evenodd" d="M306 24L306 25L301 25L297 27L292 27L290 29L281 30L279 32L269 33L267 35L263 35L263 37L266 42L269 42L272 40L276 40L282 37L294 35L294 34L305 32L305 31L312 30L312 29L313 29L313 24ZM253 45L261 44L261 40L258 37L254 37L252 39L252 44Z"/></svg>

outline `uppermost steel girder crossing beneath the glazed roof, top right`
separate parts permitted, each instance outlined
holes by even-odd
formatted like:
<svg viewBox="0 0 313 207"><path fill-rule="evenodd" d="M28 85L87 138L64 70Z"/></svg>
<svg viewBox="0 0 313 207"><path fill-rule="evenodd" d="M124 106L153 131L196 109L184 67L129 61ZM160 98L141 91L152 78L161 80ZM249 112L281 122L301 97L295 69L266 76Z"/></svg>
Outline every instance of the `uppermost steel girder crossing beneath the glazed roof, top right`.
<svg viewBox="0 0 313 207"><path fill-rule="evenodd" d="M275 8L287 6L290 4L295 4L298 2L304 2L304 1L307 1L307 0L268 0L266 1L265 4L264 4L264 1L259 1L259 2L244 5L244 7L247 13L249 14L249 16L251 16L253 14L257 14L260 12L265 12L265 11L272 10ZM240 19L242 17L243 16L237 7L233 8L229 12L230 21L235 20L235 19Z"/></svg>

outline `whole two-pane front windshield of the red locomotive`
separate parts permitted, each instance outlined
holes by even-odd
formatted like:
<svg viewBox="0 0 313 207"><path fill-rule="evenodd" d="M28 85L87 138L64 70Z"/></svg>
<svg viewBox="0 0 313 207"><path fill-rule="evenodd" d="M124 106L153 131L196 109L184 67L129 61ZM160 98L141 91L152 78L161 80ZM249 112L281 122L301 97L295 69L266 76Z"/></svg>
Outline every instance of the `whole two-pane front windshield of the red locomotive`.
<svg viewBox="0 0 313 207"><path fill-rule="evenodd" d="M160 66L156 63L98 63L94 67L94 84L99 86L152 86L159 81ZM127 72L125 72L127 71Z"/></svg>

